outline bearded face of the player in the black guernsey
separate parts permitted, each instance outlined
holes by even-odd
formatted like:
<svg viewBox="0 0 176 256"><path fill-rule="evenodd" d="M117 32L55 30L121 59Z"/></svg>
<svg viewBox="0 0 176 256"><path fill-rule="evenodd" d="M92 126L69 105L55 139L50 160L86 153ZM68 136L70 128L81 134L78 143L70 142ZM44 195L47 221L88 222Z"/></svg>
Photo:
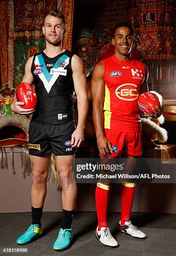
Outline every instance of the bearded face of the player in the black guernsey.
<svg viewBox="0 0 176 256"><path fill-rule="evenodd" d="M61 18L48 15L45 18L45 24L42 30L46 40L52 45L57 45L62 41L64 33L63 21Z"/></svg>

